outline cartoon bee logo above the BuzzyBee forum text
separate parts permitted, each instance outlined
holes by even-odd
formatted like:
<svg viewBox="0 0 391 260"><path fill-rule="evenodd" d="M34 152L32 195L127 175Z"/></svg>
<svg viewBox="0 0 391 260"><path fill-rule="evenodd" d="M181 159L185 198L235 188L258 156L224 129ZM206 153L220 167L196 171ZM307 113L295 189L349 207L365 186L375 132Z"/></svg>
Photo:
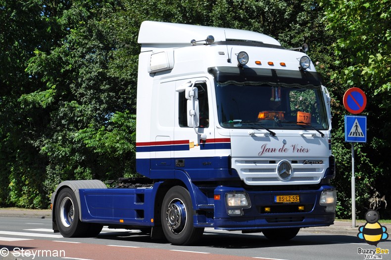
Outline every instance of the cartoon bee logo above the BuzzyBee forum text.
<svg viewBox="0 0 391 260"><path fill-rule="evenodd" d="M369 210L365 213L365 220L367 223L358 228L357 237L364 239L369 245L377 246L380 241L384 241L389 237L387 234L387 227L382 226L379 220L379 213L376 210Z"/></svg>

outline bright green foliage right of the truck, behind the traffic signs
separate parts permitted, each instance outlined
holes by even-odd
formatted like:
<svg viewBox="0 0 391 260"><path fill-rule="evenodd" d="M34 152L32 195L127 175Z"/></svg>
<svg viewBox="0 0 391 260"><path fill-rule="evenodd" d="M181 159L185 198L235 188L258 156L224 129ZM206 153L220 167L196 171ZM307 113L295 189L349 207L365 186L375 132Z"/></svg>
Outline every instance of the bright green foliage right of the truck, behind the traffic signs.
<svg viewBox="0 0 391 260"><path fill-rule="evenodd" d="M365 213L363 207L369 207L371 197L379 194L390 196L391 2L322 0L321 4L326 10L326 29L336 36L331 45L334 50L334 63L331 65L334 68L330 71L331 80L338 86L338 89L332 89L339 103L334 106L338 113L333 120L335 137L343 138L342 114L347 114L341 104L344 91L349 87L360 87L368 99L367 108L362 113L368 118L367 143L355 145L356 202L362 217ZM333 148L340 168L337 183L342 196L349 198L349 190L343 187L350 186L350 145L339 142ZM349 208L350 201L340 200L339 203L341 209ZM385 204L381 206L385 207ZM386 216L390 216L390 212L390 209L381 210ZM343 215L347 214L348 211Z"/></svg>

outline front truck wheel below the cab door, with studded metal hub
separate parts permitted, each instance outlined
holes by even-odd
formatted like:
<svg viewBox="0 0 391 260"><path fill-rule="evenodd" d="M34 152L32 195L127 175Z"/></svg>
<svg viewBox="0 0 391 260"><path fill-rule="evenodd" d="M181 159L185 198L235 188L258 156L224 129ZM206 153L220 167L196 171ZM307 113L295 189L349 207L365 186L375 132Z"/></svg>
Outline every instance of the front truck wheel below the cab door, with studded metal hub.
<svg viewBox="0 0 391 260"><path fill-rule="evenodd" d="M164 196L161 222L165 237L173 245L196 243L204 228L195 228L190 193L182 186L172 187Z"/></svg>

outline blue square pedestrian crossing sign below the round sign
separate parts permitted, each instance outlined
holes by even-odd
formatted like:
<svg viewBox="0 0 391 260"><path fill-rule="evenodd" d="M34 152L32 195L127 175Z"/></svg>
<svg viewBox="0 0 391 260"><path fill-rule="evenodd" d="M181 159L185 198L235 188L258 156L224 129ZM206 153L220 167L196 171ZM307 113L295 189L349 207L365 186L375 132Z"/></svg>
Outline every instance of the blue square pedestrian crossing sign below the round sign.
<svg viewBox="0 0 391 260"><path fill-rule="evenodd" d="M367 141L367 117L345 116L345 142Z"/></svg>

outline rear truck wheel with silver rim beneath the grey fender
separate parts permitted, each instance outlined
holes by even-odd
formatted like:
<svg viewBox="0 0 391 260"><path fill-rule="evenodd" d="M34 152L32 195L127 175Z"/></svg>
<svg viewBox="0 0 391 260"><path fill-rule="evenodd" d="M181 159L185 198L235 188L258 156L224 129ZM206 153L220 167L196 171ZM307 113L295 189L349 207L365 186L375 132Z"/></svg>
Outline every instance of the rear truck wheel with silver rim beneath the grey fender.
<svg viewBox="0 0 391 260"><path fill-rule="evenodd" d="M62 189L56 199L55 220L63 237L81 237L88 234L91 225L80 221L79 214L75 193L69 188Z"/></svg>

